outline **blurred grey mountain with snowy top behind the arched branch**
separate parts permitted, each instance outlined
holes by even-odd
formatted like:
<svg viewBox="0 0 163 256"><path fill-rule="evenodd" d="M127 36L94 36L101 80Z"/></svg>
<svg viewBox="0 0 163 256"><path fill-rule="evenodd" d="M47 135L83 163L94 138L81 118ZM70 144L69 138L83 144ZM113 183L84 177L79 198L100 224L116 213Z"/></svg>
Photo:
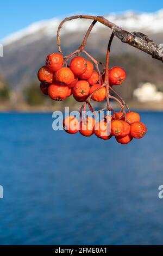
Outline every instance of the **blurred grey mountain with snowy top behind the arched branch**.
<svg viewBox="0 0 163 256"><path fill-rule="evenodd" d="M149 35L149 38L158 44L163 42L163 9L156 13L139 14L126 11L125 13L109 14L105 17L130 32L140 31ZM62 17L62 19L64 18ZM57 51L56 33L62 19L55 18L33 23L0 41L4 45L4 57L0 59L0 74L12 88L23 89L24 86L37 80L37 70L44 65L46 55ZM90 23L90 20L78 19L64 24L61 29L61 45L65 54L71 53L81 44ZM87 51L94 54L95 57L104 56L110 33L109 28L96 23L87 41ZM134 53L139 57L148 57L135 48L122 44L116 38L111 53L112 55Z"/></svg>

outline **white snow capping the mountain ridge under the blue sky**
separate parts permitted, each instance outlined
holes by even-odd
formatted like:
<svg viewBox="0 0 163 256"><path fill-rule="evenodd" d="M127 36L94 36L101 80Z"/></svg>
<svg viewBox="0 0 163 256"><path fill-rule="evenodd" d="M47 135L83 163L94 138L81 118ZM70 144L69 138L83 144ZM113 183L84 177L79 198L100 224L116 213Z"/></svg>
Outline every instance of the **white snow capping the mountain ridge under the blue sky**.
<svg viewBox="0 0 163 256"><path fill-rule="evenodd" d="M129 31L146 31L152 33L163 32L163 9L157 11L156 13L140 13L136 14L133 11L126 11L122 14L110 14L106 16L106 19L110 20L116 25L128 29ZM57 27L61 19L54 18L52 20L45 20L40 22L35 22L29 27L22 29L16 33L13 33L7 38L2 40L4 45L13 44L19 40L25 40L26 44L34 40L41 39L42 36L52 37L57 32ZM72 20L66 22L64 25L63 32L72 33L77 31L84 31L89 26L89 20ZM96 24L96 27L92 32L97 32L99 28L103 25L100 23Z"/></svg>

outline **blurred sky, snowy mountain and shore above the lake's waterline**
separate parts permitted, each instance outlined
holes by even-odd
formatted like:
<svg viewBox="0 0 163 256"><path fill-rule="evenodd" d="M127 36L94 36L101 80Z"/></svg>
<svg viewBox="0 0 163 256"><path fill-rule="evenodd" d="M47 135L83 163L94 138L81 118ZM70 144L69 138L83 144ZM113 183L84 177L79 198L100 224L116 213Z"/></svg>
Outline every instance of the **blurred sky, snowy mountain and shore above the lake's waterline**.
<svg viewBox="0 0 163 256"><path fill-rule="evenodd" d="M60 108L60 102L52 102L41 94L37 71L45 64L47 54L58 50L57 27L66 16L104 15L130 32L141 31L157 44L162 43L163 10L160 1L154 5L146 1L138 1L136 4L117 1L116 5L106 1L95 1L93 4L83 1L79 6L75 1L68 4L64 1L63 8L60 3L53 1L49 1L48 6L42 1L16 1L8 7L7 1L2 4L2 9L0 43L4 45L4 57L1 57L0 62L0 109L3 110L52 111L54 104ZM79 47L90 24L90 20L65 23L61 29L61 45L65 55ZM110 33L109 28L96 24L86 45L86 50L103 63ZM116 89L130 106L162 109L161 62L115 38L111 48L110 67L114 65L122 66L127 72L123 87ZM68 98L67 103L73 108L76 104L73 97Z"/></svg>

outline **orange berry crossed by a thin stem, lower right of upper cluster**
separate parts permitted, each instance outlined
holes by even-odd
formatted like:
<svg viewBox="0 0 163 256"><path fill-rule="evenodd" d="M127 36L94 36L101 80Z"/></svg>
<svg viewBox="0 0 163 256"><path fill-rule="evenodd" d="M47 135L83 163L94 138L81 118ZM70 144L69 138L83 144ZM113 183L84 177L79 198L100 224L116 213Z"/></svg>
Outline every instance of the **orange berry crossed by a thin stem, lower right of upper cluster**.
<svg viewBox="0 0 163 256"><path fill-rule="evenodd" d="M93 86L90 87L90 94L95 92L97 88L99 88L101 85L100 84L94 84ZM97 90L96 93L92 95L92 100L95 101L103 101L106 98L106 88L103 86L101 89Z"/></svg>

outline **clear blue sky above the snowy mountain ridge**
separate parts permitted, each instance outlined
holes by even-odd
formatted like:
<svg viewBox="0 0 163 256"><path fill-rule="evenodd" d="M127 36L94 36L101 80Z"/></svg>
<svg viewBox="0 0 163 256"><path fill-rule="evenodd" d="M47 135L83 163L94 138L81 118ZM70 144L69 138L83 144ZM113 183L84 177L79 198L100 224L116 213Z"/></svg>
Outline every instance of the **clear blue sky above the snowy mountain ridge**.
<svg viewBox="0 0 163 256"><path fill-rule="evenodd" d="M51 19L55 16L65 16L67 14L95 13L105 15L110 12L120 12L125 10L153 12L163 8L162 1L109 1L109 0L15 0L1 1L0 14L0 39L10 33L22 29L35 21Z"/></svg>

